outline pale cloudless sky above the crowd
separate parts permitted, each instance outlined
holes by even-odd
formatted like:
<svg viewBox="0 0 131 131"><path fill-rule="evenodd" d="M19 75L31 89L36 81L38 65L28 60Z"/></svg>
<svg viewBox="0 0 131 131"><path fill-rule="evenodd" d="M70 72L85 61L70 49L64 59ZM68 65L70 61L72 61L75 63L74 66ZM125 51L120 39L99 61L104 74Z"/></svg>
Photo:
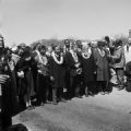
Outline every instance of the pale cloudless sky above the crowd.
<svg viewBox="0 0 131 131"><path fill-rule="evenodd" d="M130 12L131 0L0 0L0 32L7 45L128 35Z"/></svg>

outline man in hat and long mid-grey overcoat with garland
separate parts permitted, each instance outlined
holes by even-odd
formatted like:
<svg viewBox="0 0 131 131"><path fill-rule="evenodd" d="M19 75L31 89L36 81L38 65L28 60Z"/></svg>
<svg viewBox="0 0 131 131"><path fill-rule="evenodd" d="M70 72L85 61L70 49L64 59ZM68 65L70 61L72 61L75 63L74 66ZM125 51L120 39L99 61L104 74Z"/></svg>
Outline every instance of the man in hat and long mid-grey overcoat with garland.
<svg viewBox="0 0 131 131"><path fill-rule="evenodd" d="M109 81L108 55L105 50L105 41L98 41L98 47L94 51L96 62L96 81L102 95L105 94Z"/></svg>

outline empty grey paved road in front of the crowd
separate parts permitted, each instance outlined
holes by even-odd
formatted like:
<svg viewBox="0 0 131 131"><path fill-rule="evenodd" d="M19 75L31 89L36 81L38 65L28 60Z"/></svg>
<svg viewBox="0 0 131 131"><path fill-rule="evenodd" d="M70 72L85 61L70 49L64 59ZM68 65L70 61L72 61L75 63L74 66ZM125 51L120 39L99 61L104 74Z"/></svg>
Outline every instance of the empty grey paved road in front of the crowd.
<svg viewBox="0 0 131 131"><path fill-rule="evenodd" d="M31 131L131 131L130 111L131 94L114 88L109 95L25 110L13 121L23 122Z"/></svg>

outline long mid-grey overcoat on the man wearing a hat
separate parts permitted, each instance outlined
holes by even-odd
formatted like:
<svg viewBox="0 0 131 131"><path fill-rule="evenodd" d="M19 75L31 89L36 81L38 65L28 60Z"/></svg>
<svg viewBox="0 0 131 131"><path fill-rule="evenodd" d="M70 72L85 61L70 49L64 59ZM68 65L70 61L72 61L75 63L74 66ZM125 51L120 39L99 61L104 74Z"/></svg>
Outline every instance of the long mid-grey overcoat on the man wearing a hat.
<svg viewBox="0 0 131 131"><path fill-rule="evenodd" d="M108 58L107 52L105 51L105 56L102 57L98 52L98 49L94 52L95 62L97 66L96 74L97 81L109 81L109 66L108 66Z"/></svg>

